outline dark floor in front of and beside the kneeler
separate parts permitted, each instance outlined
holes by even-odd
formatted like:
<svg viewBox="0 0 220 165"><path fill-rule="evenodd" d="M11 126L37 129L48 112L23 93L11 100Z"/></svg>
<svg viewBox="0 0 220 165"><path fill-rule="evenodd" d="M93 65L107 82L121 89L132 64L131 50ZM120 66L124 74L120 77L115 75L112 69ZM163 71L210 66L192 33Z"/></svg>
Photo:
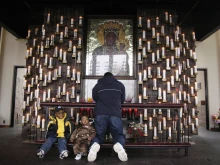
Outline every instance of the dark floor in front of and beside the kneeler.
<svg viewBox="0 0 220 165"><path fill-rule="evenodd" d="M190 138L189 155L174 149L127 149L128 161L121 162L111 149L101 149L94 162L85 157L75 160L70 148L68 158L60 160L56 147L51 148L43 159L36 156L36 145L24 144L21 127L0 128L0 165L220 165L220 132L199 128L199 135Z"/></svg>

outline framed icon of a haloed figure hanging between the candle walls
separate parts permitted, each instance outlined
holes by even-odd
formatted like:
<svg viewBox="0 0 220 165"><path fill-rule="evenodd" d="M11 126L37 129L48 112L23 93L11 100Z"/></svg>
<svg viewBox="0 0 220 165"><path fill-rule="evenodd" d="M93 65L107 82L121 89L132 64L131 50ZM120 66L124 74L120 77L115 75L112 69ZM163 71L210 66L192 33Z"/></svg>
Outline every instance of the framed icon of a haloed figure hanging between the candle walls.
<svg viewBox="0 0 220 165"><path fill-rule="evenodd" d="M133 76L133 19L89 18L86 76Z"/></svg>

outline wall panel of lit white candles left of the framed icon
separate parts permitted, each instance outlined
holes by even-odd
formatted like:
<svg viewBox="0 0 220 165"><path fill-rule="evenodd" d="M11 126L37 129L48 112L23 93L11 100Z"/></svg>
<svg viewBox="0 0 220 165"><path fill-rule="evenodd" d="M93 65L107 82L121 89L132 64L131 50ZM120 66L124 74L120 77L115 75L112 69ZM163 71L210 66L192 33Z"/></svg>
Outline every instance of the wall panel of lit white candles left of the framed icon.
<svg viewBox="0 0 220 165"><path fill-rule="evenodd" d="M29 27L24 75L24 128L28 123L44 131L49 114L41 103L80 102L83 29L84 10L80 8L45 8L42 24Z"/></svg>

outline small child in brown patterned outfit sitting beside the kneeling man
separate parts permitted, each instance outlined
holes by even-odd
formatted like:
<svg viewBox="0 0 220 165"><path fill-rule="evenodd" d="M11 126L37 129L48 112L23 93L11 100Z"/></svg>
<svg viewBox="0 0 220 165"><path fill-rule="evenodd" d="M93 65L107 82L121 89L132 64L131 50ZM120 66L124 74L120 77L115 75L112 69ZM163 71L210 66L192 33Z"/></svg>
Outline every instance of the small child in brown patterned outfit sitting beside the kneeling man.
<svg viewBox="0 0 220 165"><path fill-rule="evenodd" d="M95 128L90 125L89 118L87 116L82 116L81 125L70 137L70 141L73 143L73 152L76 155L76 160L80 160L82 155L87 156L88 146L95 135Z"/></svg>

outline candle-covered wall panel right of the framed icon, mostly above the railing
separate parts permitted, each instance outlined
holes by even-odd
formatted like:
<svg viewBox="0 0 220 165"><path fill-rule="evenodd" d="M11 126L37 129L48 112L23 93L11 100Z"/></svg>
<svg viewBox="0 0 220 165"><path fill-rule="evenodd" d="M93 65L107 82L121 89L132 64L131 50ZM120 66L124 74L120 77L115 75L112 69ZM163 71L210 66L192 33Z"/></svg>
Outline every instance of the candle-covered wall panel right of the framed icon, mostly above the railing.
<svg viewBox="0 0 220 165"><path fill-rule="evenodd" d="M137 100L184 104L183 115L193 125L198 113L195 41L193 28L177 25L173 10L137 10Z"/></svg>

